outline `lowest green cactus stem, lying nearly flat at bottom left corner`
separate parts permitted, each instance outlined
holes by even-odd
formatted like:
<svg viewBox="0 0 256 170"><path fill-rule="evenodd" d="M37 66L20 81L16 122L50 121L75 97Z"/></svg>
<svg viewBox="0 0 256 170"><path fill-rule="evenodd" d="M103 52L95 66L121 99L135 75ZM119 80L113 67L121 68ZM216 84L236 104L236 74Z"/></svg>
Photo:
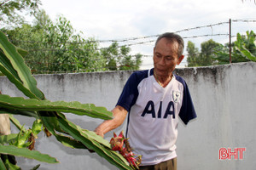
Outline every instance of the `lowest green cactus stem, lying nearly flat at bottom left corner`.
<svg viewBox="0 0 256 170"><path fill-rule="evenodd" d="M29 159L34 159L37 161L44 161L47 163L58 163L54 157L46 154L42 154L37 150L28 150L26 148L17 148L13 145L0 145L0 153L9 154L13 156L23 156Z"/></svg>

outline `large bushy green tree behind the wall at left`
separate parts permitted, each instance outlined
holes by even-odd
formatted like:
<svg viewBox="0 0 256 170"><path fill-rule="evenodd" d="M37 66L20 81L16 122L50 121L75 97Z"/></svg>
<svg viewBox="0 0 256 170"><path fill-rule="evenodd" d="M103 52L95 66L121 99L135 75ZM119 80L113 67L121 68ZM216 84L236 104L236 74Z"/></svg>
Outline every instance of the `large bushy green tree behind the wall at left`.
<svg viewBox="0 0 256 170"><path fill-rule="evenodd" d="M36 14L34 26L22 25L4 30L15 46L26 49L26 64L34 73L103 71L106 63L100 55L98 42L75 33L63 16L55 22L44 10Z"/></svg>

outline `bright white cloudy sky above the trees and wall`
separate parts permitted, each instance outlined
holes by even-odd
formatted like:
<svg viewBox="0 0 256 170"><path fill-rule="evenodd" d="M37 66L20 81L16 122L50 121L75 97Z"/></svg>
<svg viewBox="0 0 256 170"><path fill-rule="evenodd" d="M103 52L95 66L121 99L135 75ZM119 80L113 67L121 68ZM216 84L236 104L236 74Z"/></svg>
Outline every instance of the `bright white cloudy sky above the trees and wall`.
<svg viewBox="0 0 256 170"><path fill-rule="evenodd" d="M71 21L76 31L84 37L96 40L124 39L180 31L197 26L208 26L232 20L256 20L256 4L253 0L41 0L42 8L52 20L62 14ZM247 30L256 31L256 22L233 22L232 35ZM212 26L180 32L182 37L206 34L228 34L229 25ZM201 42L213 39L228 42L229 37L197 37L185 39ZM134 42L155 40L155 37ZM236 37L234 41L236 40ZM103 44L102 44L103 45ZM132 54L153 54L154 42L131 46ZM186 51L184 50L184 54ZM143 58L144 68L152 67L151 57ZM185 64L185 63L184 63Z"/></svg>

